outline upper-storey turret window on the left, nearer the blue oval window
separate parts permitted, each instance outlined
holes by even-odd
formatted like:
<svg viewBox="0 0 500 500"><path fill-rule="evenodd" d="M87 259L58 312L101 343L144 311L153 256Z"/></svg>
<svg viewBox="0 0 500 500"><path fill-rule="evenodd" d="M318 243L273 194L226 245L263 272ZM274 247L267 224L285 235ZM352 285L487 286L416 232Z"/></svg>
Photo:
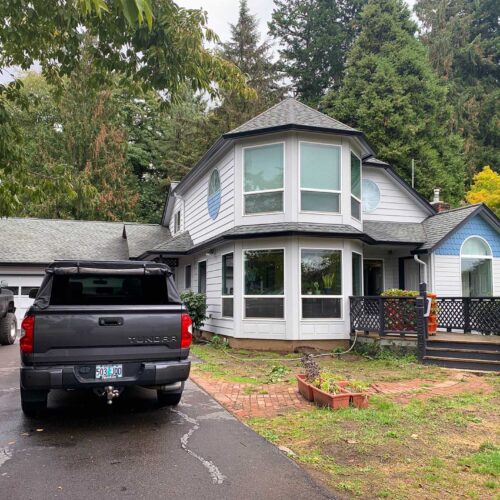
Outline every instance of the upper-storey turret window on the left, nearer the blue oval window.
<svg viewBox="0 0 500 500"><path fill-rule="evenodd" d="M245 148L243 192L245 214L283 211L283 144Z"/></svg>

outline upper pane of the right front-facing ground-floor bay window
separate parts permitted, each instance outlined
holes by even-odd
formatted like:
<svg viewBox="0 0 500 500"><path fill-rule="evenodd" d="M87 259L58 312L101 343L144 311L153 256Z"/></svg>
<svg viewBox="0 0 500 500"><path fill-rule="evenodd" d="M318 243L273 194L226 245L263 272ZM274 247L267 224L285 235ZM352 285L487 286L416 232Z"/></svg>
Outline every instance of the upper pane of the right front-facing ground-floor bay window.
<svg viewBox="0 0 500 500"><path fill-rule="evenodd" d="M302 295L342 295L340 250L302 250Z"/></svg>

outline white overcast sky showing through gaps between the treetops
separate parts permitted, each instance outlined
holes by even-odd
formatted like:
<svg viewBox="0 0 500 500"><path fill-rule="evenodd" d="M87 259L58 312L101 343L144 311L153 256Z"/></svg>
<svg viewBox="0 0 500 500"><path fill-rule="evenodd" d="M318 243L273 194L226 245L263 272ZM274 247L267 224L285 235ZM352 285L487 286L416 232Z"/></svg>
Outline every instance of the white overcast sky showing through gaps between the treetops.
<svg viewBox="0 0 500 500"><path fill-rule="evenodd" d="M0 0L1 1L1 0ZM410 7L413 7L415 0L405 0ZM238 19L239 0L177 0L177 3L186 8L202 8L208 13L208 26L212 28L222 41L227 41L230 37L229 24L235 24ZM271 13L274 8L272 0L248 0L248 7L252 14L257 15L261 36L267 36L267 23L271 20ZM12 70L2 72L0 70L0 83L11 80Z"/></svg>

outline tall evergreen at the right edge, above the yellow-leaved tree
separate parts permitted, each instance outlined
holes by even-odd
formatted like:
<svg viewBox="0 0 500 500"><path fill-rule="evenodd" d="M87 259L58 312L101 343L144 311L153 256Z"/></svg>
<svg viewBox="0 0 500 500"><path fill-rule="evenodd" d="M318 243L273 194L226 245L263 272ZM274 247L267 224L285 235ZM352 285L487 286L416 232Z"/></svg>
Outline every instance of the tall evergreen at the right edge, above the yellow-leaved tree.
<svg viewBox="0 0 500 500"><path fill-rule="evenodd" d="M419 0L422 41L450 87L453 126L465 141L469 176L500 171L500 31L495 0Z"/></svg>

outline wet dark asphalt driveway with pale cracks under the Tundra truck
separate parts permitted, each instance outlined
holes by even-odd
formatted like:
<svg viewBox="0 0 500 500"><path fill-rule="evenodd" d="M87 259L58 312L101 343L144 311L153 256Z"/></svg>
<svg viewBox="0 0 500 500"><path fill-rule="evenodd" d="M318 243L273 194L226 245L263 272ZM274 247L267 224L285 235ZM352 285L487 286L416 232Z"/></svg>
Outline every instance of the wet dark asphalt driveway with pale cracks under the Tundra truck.
<svg viewBox="0 0 500 500"><path fill-rule="evenodd" d="M107 406L53 391L49 410L20 408L19 347L0 346L0 498L325 499L306 471L194 383L158 408L132 388Z"/></svg>

